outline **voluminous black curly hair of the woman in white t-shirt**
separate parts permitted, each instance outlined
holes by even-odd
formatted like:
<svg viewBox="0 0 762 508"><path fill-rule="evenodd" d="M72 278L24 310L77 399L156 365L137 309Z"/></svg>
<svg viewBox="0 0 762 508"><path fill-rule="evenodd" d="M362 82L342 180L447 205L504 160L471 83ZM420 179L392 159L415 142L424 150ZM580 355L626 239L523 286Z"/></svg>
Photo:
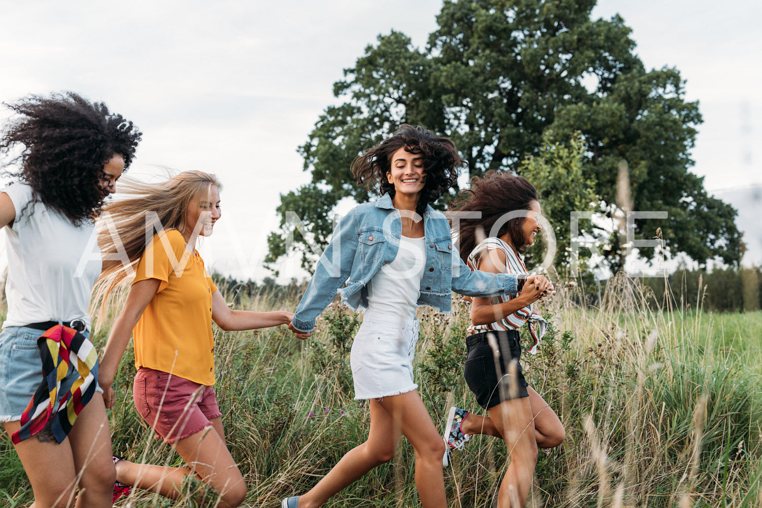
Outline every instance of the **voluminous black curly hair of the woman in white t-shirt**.
<svg viewBox="0 0 762 508"><path fill-rule="evenodd" d="M0 138L0 155L11 156L2 167L33 189L33 201L68 217L75 225L96 217L104 197L96 188L103 167L115 154L130 167L142 133L131 121L74 92L50 97L28 95L3 103L18 117L8 121ZM21 154L12 156L17 146Z"/></svg>

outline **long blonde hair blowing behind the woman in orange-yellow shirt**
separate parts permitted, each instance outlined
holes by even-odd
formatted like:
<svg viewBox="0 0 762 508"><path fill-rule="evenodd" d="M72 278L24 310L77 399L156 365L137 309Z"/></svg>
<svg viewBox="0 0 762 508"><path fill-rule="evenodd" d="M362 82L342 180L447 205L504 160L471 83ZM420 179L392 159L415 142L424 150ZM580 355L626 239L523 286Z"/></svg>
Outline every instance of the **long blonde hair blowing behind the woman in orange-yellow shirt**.
<svg viewBox="0 0 762 508"><path fill-rule="evenodd" d="M103 270L95 283L91 306L100 307L99 322L107 310L126 297L125 290L133 281L154 229L192 230L195 225L186 223L186 212L195 202L210 199L212 186L222 190L216 175L201 171L184 171L158 183L120 180L119 194L124 198L107 204L98 217ZM146 230L151 233L148 238Z"/></svg>

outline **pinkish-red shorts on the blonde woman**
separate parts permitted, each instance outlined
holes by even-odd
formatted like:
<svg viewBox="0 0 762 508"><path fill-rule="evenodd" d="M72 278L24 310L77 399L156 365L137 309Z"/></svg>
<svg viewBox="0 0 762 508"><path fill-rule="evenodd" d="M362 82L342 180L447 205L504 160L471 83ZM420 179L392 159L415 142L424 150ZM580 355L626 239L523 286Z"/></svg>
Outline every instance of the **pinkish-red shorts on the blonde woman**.
<svg viewBox="0 0 762 508"><path fill-rule="evenodd" d="M194 400L191 397L196 394ZM135 407L165 442L185 439L223 416L214 388L141 367L133 383Z"/></svg>

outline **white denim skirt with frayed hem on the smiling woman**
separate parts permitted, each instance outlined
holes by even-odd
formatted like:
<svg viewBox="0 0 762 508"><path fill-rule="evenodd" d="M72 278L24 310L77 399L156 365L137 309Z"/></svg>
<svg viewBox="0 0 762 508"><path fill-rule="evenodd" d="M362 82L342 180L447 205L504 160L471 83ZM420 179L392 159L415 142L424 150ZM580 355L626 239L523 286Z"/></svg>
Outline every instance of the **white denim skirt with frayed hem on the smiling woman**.
<svg viewBox="0 0 762 508"><path fill-rule="evenodd" d="M389 319L365 313L352 343L349 362L354 399L379 399L418 388L413 382L413 355L418 342L418 318Z"/></svg>

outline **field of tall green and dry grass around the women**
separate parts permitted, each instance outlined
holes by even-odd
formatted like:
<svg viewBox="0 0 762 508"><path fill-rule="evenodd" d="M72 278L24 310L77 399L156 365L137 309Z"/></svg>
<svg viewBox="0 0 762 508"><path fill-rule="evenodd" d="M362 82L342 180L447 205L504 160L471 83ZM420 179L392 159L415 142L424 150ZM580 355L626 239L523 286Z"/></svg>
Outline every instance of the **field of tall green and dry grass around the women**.
<svg viewBox="0 0 762 508"><path fill-rule="evenodd" d="M236 297L236 307L293 309L299 292ZM762 313L650 310L637 284L609 285L600 309L571 304L575 289L545 307L552 327L540 354L523 358L528 381L564 423L567 439L540 452L527 506L762 506ZM700 295L697 295L700 299ZM468 304L419 310L416 381L434 422L450 404L480 413L463 381ZM694 303L693 307L696 307ZM361 317L359 317L361 319ZM349 348L358 317L334 305L312 339L285 327L216 331L216 391L229 447L248 482L244 506L280 506L303 493L367 436L367 405L354 400ZM104 346L105 331L94 336ZM523 343L527 344L526 337ZM181 463L133 408L133 358L117 375L114 449L135 461ZM491 506L504 444L476 436L445 471L450 506ZM418 506L413 453L371 471L326 506ZM181 502L133 492L117 506L213 506L188 482ZM203 500L201 498L205 498ZM0 441L0 504L32 497L9 439Z"/></svg>

